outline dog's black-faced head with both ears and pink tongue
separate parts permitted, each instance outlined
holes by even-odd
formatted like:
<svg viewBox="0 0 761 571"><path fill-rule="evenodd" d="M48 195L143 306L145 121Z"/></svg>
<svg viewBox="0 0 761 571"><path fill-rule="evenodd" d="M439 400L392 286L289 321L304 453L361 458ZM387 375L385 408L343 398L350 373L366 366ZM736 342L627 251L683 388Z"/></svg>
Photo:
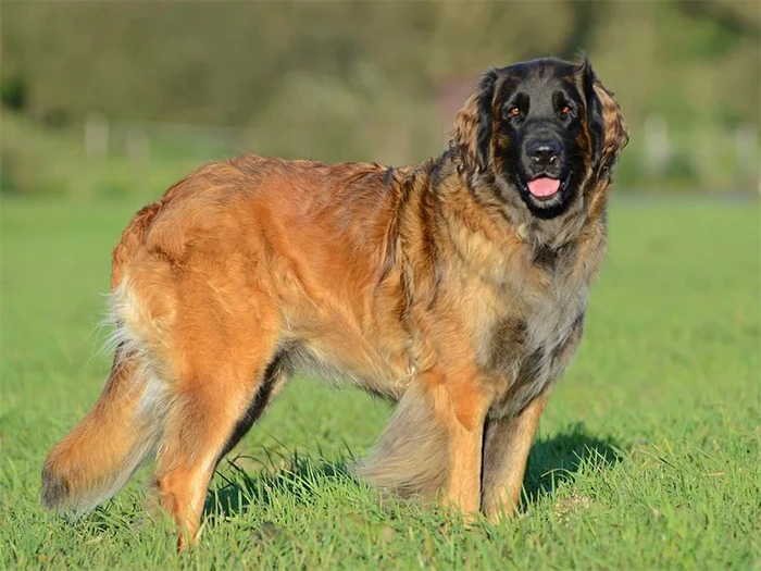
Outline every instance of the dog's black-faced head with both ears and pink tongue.
<svg viewBox="0 0 761 571"><path fill-rule="evenodd" d="M619 104L587 60L544 59L489 71L458 114L452 144L469 172L553 218L587 183L608 178L627 141Z"/></svg>

